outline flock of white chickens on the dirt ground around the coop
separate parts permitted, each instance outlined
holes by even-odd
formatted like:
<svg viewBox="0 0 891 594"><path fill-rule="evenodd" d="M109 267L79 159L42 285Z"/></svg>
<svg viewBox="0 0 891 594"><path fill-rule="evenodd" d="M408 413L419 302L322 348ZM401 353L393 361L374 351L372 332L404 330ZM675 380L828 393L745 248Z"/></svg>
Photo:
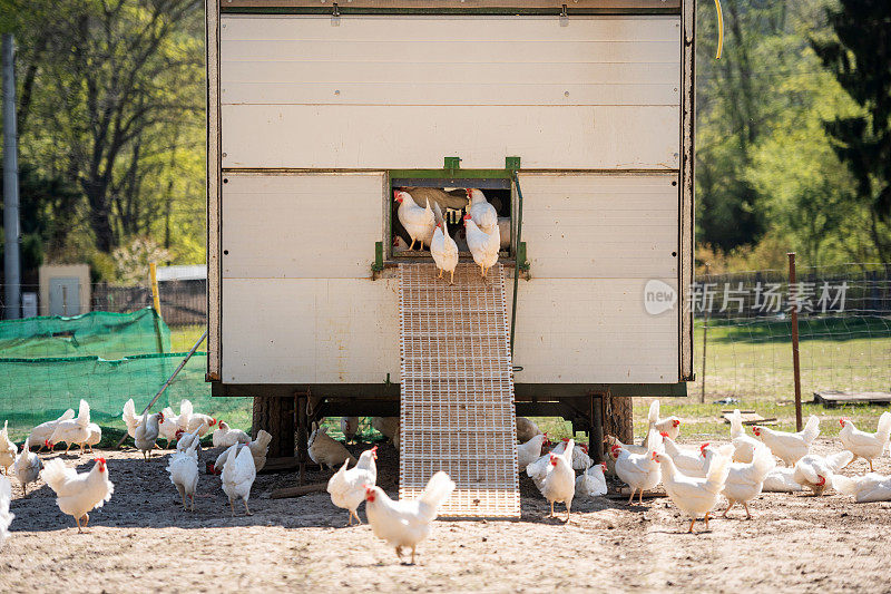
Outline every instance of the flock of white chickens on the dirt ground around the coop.
<svg viewBox="0 0 891 594"><path fill-rule="evenodd" d="M58 458L43 465L38 455L31 451L31 446L52 449L55 445L65 442L68 449L72 445L79 446L82 452L92 439L89 413L89 406L81 400L77 417L74 410L68 410L58 419L35 427L21 451L9 439L6 423L0 432L0 467L3 474L10 475L12 468L26 494L28 484L41 477L56 493L59 509L75 518L78 532L88 526L89 512L101 507L114 493L106 460L96 458L89 471L77 473ZM166 438L168 445L176 441L176 450L169 455L166 470L183 508L193 512L199 476L200 439L216 427L212 436L213 445L225 449L213 468L208 462L208 471L219 474L221 486L229 500L233 516L237 500L251 515L247 500L256 474L266 462L272 438L268 432L261 430L252 440L244 431L195 412L188 400L182 402L179 415L174 415L169 408L153 415L137 415L130 400L124 407L123 419L137 449L146 459L158 448L156 442L159 438ZM571 439L564 439L542 455L547 435L527 419L518 417L517 420L518 436L522 441L517 446L520 471L527 473L550 504L551 517L554 504L566 506L568 520L575 497L606 495L607 471L614 473L628 485L629 504L636 494L638 500L643 502L645 490L662 484L674 505L691 517L689 532L693 532L701 517L707 528L709 516L722 496L727 502L725 517L735 505L742 505L746 516L751 517L748 504L762 491L810 489L819 496L834 488L853 496L859 503L891 500L891 476L873 471L860 477L839 474L855 458L863 458L872 470L872 461L884 454L891 438L891 412L881 415L874 434L856 429L850 419L840 419L842 429L839 440L842 449L830 456L821 456L811 452L811 446L820 435L820 420L815 416L799 432L755 426L752 429L754 437L750 437L736 410L731 418L731 444L715 447L705 442L689 448L676 444L681 420L676 417L660 418L659 403L655 401L649 410L645 444L625 445L607 437L610 445L609 464L601 465L593 465L587 447L576 446ZM355 417L344 417L341 425L347 439L355 435ZM398 418L375 418L373 425L398 447ZM98 444L98 440L92 444ZM430 478L418 499L392 500L376 486L376 446L363 451L355 460L343 444L329 437L325 429L319 427L313 428L307 445L310 456L320 466L340 466L327 483L327 493L335 506L347 510L347 525L352 525L353 518L361 524L358 508L364 503L374 535L393 546L400 559L410 554L411 563L414 563L417 546L429 536L439 508L456 488L454 481L440 471ZM776 458L783 461L784 467L776 466ZM581 470L579 476L576 476L577 470ZM11 497L9 480L0 477L0 546L13 519L9 512Z"/></svg>

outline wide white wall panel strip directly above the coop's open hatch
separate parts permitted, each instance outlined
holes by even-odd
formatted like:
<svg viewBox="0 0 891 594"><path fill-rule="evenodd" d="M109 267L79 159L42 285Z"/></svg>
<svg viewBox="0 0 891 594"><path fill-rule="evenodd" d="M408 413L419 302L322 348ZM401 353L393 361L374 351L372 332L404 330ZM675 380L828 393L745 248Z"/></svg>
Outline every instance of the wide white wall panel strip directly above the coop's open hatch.
<svg viewBox="0 0 891 594"><path fill-rule="evenodd" d="M677 169L679 110L224 105L223 167Z"/></svg>

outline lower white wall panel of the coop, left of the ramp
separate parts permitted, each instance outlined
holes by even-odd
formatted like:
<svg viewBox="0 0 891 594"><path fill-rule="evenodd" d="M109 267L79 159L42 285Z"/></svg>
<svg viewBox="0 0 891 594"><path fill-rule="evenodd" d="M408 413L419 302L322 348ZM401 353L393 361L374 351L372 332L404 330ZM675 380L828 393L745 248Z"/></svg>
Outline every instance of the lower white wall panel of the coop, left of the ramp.
<svg viewBox="0 0 891 594"><path fill-rule="evenodd" d="M224 279L223 381L395 381L398 291L394 279Z"/></svg>

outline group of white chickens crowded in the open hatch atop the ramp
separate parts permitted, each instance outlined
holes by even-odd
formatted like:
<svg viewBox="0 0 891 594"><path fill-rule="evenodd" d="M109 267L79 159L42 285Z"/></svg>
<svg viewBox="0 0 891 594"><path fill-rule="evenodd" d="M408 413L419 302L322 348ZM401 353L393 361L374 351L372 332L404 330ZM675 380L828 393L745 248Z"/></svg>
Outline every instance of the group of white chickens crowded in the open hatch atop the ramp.
<svg viewBox="0 0 891 594"><path fill-rule="evenodd" d="M498 212L489 204L481 189L467 189L468 205L464 214L464 231L467 245L473 256L473 262L480 267L480 275L486 276L490 267L498 262L498 252L501 249L501 231L498 224ZM449 284L454 284L454 269L458 265L458 244L449 235L448 222L442 216L439 203L430 198L424 201L424 206L415 202L411 193L396 189L393 198L399 203L396 214L399 222L409 233L411 245L420 244L430 246L430 255L439 270L439 277L444 272L450 273Z"/></svg>

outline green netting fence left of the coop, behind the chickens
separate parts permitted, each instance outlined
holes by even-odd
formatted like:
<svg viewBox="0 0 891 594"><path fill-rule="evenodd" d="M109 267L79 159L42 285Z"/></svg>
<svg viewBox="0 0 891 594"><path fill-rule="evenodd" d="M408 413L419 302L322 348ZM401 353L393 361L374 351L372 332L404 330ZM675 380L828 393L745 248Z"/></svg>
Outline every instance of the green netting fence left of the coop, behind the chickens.
<svg viewBox="0 0 891 594"><path fill-rule="evenodd" d="M124 403L133 398L140 411L186 356L169 350L170 330L150 308L0 322L0 422L21 440L82 398L92 422L124 429ZM197 412L248 429L251 400L212 398L206 367L207 354L196 352L153 410L178 412L187 398Z"/></svg>

